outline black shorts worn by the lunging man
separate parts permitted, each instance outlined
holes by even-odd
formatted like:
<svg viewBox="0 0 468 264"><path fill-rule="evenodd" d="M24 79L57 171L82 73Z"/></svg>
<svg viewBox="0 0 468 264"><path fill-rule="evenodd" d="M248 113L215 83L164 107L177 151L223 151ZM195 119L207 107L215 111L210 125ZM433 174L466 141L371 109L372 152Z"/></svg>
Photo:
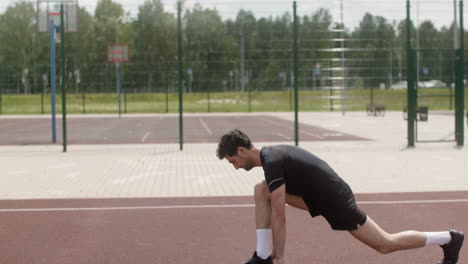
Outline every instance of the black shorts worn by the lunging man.
<svg viewBox="0 0 468 264"><path fill-rule="evenodd" d="M322 215L333 230L352 231L356 230L358 225L364 225L367 215L358 208L353 193L350 192L340 198L337 199L335 197L333 203L329 203L320 209L317 208L314 211L309 210L309 213L312 217ZM304 198L304 201L307 206L309 206L309 202L313 203L313 201L307 198ZM309 208L313 207L309 206Z"/></svg>

